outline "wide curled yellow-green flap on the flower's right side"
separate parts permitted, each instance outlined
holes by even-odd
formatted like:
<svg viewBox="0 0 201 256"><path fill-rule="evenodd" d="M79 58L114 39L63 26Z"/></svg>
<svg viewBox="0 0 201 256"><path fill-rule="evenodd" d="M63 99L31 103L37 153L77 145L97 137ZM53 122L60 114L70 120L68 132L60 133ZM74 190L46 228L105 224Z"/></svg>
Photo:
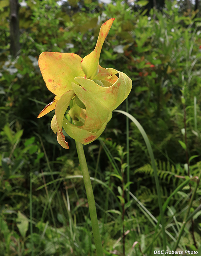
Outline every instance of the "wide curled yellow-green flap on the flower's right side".
<svg viewBox="0 0 201 256"><path fill-rule="evenodd" d="M112 75L119 73L118 80L110 87L99 86L94 81L84 77L75 77L75 81L81 85L83 91L86 91L88 95L93 97L94 102L96 100L102 103L109 111L112 111L116 109L130 93L132 80L126 74L115 69L108 69L108 71ZM79 97L79 95L77 96ZM86 103L84 104L86 105Z"/></svg>

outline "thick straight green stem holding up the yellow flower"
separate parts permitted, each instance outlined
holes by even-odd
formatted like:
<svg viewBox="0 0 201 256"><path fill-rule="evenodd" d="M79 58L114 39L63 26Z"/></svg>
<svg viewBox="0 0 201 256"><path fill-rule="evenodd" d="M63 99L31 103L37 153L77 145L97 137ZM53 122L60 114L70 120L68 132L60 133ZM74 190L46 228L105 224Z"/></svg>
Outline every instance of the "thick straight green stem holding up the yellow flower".
<svg viewBox="0 0 201 256"><path fill-rule="evenodd" d="M95 243L95 247L96 247L96 255L103 256L103 246L102 246L102 241L101 241L101 234L99 232L98 218L97 218L97 214L96 214L96 205L95 205L93 189L92 189L92 185L91 185L91 181L90 181L89 171L88 171L88 167L87 167L87 162L86 162L86 158L84 155L82 143L77 142L77 141L75 143L76 143L77 154L78 154L80 167L81 167L81 171L82 171L82 176L83 176L83 180L84 180L84 186L85 186L86 193L87 193L87 199L88 199L88 204L89 204L89 213L90 213L90 218L91 218L94 243Z"/></svg>

